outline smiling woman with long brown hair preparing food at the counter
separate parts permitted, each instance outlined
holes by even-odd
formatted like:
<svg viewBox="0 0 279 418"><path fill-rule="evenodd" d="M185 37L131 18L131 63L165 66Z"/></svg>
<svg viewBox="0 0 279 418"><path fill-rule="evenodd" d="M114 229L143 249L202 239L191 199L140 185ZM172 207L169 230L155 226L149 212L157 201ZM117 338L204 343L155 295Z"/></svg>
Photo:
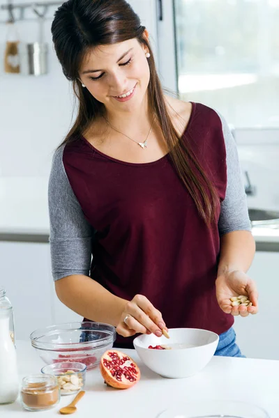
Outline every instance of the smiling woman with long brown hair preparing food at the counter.
<svg viewBox="0 0 279 418"><path fill-rule="evenodd" d="M257 312L255 252L236 146L203 104L163 94L149 35L124 0L69 0L52 23L79 100L50 176L56 293L115 346L197 327L242 356L234 316ZM92 258L92 259L91 259ZM232 307L247 295L251 307Z"/></svg>

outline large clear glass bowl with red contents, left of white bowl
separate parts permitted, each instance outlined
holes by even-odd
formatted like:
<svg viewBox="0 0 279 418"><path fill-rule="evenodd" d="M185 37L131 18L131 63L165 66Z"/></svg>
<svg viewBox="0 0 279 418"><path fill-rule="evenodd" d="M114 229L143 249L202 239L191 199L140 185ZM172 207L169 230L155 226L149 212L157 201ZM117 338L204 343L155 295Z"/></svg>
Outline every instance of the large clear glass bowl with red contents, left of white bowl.
<svg viewBox="0 0 279 418"><path fill-rule="evenodd" d="M105 323L65 323L36 330L30 339L46 364L77 362L91 370L98 366L103 353L112 348L116 330Z"/></svg>

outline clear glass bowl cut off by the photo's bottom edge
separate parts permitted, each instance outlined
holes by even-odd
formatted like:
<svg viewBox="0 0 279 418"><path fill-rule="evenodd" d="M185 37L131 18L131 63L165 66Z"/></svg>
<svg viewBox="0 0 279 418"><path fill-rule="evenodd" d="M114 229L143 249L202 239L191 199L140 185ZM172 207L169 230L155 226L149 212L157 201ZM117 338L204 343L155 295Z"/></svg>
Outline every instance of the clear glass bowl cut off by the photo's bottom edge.
<svg viewBox="0 0 279 418"><path fill-rule="evenodd" d="M178 403L158 418L270 418L257 405L240 401L198 401Z"/></svg>

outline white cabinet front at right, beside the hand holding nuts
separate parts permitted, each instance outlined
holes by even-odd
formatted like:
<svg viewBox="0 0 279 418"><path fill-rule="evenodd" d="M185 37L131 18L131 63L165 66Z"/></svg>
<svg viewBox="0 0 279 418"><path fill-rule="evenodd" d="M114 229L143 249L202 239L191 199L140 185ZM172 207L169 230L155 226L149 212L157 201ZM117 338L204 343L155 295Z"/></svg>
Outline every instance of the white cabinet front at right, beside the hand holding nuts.
<svg viewBox="0 0 279 418"><path fill-rule="evenodd" d="M236 341L246 357L279 360L279 253L257 251L248 272L257 282L259 312L236 316Z"/></svg>

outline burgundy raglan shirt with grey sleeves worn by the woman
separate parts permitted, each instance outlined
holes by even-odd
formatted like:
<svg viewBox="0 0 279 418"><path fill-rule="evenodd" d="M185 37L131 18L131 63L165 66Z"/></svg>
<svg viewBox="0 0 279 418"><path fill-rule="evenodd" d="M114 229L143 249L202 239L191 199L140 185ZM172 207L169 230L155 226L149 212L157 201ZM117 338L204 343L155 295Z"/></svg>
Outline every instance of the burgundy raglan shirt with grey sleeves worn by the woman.
<svg viewBox="0 0 279 418"><path fill-rule="evenodd" d="M210 228L169 155L123 162L82 136L56 150L49 185L52 274L54 280L85 274L125 300L145 295L168 328L221 334L234 318L216 300L220 236L250 231L236 144L223 116L199 103L181 141L218 192ZM133 348L134 338L117 336L115 346Z"/></svg>

